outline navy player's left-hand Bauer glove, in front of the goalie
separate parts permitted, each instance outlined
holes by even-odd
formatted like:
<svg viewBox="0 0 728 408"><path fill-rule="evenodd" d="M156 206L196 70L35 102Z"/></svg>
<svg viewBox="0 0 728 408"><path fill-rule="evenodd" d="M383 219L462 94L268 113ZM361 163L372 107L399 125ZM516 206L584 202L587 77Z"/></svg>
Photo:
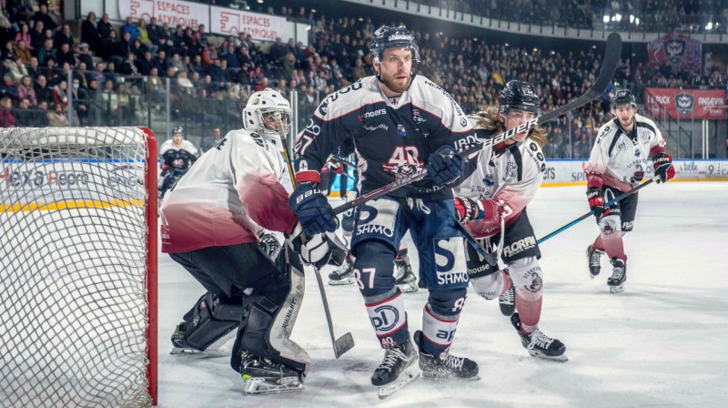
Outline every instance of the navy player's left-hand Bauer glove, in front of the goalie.
<svg viewBox="0 0 728 408"><path fill-rule="evenodd" d="M336 230L329 200L313 183L300 183L288 199L288 206L298 216L303 231L308 236Z"/></svg>

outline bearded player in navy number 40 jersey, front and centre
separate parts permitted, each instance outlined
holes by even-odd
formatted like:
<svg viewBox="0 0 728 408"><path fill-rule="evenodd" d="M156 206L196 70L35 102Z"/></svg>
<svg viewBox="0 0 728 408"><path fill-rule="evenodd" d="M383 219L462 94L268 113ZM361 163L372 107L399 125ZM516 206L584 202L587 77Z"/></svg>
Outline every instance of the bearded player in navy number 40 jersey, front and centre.
<svg viewBox="0 0 728 408"><path fill-rule="evenodd" d="M476 362L450 354L468 287L450 187L464 168L456 153L477 138L450 95L415 75L420 50L410 31L382 26L370 51L376 75L326 97L308 121L296 146L298 188L288 203L307 234L336 229L319 170L346 138L353 139L361 160L362 194L427 168L427 178L361 204L351 239L354 274L384 349L371 382L385 397L420 370L430 377L477 378ZM430 291L414 342L393 274L407 230L420 256L420 279Z"/></svg>

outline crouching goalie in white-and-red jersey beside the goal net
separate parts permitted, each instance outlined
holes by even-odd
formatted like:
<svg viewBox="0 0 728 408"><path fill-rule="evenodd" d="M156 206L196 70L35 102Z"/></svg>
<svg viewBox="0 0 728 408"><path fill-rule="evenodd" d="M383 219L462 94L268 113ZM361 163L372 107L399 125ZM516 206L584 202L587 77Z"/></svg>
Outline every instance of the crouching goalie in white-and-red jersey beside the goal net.
<svg viewBox="0 0 728 408"><path fill-rule="evenodd" d="M303 267L289 250L268 258L257 234L263 227L300 243L277 128L290 123L290 107L265 89L250 96L243 118L244 129L207 150L161 208L162 251L207 290L177 326L173 353L204 352L236 334L230 363L246 393L298 391L310 359L289 336L303 299ZM320 243L313 237L306 245ZM325 246L297 250L307 263L330 255Z"/></svg>

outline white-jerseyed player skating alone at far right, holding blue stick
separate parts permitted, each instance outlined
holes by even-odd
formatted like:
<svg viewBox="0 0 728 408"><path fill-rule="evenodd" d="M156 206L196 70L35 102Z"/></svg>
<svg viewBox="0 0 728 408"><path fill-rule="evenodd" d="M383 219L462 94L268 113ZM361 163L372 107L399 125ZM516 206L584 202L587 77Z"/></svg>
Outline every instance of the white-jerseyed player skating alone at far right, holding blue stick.
<svg viewBox="0 0 728 408"><path fill-rule="evenodd" d="M612 263L612 276L607 285L612 293L624 290L627 280L627 255L622 236L634 227L637 193L605 208L606 202L629 191L642 182L647 158L652 158L654 180L664 183L675 176L672 156L665 152L660 129L647 117L637 114L632 92L618 89L612 98L613 120L599 128L591 148L589 162L584 163L587 199L597 219L600 234L587 248L591 278L599 275L601 256L607 254Z"/></svg>

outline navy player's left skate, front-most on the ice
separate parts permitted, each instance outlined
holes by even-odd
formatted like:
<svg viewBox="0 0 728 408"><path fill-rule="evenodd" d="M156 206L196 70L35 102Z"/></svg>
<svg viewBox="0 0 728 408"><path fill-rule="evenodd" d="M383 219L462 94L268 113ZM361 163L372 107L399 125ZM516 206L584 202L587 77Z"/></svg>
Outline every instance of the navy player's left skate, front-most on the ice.
<svg viewBox="0 0 728 408"><path fill-rule="evenodd" d="M379 399L389 397L400 388L415 381L420 376L417 367L417 352L409 339L397 347L384 351L384 360L371 376L371 383L378 388Z"/></svg>

